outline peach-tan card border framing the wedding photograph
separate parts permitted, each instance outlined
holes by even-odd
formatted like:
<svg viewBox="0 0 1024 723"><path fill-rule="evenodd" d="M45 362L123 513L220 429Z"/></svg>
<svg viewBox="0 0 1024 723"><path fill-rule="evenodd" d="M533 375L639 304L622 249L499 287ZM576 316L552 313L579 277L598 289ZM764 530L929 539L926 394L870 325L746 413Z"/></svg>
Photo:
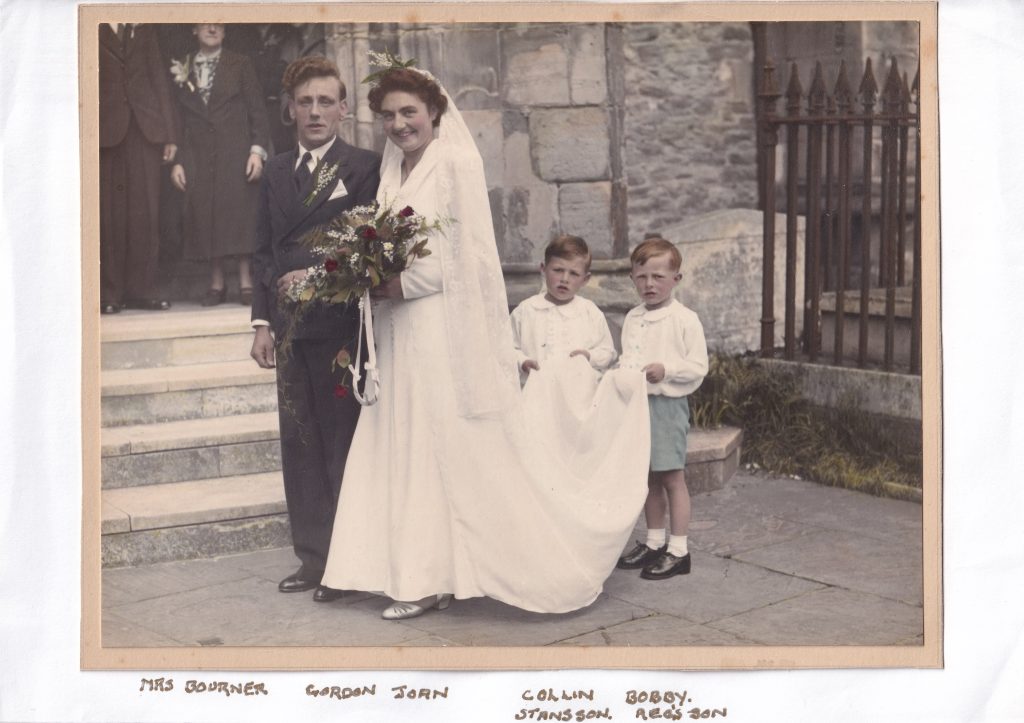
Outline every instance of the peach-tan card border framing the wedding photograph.
<svg viewBox="0 0 1024 723"><path fill-rule="evenodd" d="M354 3L80 5L82 170L82 621L84 670L746 670L940 668L942 394L939 296L939 138L935 2L650 4ZM158 19L159 18L159 19ZM699 647L196 647L111 648L101 642L98 56L100 23L594 23L911 20L920 24L922 143L922 425L924 644Z"/></svg>

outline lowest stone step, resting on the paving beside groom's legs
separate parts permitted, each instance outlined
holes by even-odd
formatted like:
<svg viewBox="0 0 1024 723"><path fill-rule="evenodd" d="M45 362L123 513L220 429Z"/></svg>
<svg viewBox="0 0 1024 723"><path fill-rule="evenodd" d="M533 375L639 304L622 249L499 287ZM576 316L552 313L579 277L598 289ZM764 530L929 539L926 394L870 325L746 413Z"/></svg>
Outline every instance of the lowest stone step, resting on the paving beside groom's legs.
<svg viewBox="0 0 1024 723"><path fill-rule="evenodd" d="M103 566L290 544L280 472L102 491Z"/></svg>

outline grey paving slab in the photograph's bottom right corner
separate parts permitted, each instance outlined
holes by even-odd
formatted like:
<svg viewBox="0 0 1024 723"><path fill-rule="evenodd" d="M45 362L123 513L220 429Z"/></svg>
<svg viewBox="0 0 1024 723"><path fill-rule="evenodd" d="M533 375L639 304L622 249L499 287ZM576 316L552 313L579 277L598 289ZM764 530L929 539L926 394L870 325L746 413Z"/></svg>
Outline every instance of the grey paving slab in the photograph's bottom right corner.
<svg viewBox="0 0 1024 723"><path fill-rule="evenodd" d="M920 607L826 588L710 625L763 645L897 645L924 619Z"/></svg>

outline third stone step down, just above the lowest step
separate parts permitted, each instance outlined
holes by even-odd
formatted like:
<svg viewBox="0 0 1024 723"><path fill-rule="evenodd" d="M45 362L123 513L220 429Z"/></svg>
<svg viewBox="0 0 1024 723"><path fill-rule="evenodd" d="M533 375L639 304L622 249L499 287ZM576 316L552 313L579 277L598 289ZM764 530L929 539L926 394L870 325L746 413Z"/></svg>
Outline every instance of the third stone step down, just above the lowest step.
<svg viewBox="0 0 1024 723"><path fill-rule="evenodd" d="M104 490L281 469L276 412L109 427L100 443Z"/></svg>

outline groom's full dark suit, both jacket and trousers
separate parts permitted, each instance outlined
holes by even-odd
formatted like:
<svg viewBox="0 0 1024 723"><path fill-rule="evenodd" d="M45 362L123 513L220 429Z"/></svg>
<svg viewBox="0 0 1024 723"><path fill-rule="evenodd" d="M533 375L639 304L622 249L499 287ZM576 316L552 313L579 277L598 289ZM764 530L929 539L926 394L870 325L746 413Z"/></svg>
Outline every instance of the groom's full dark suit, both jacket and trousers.
<svg viewBox="0 0 1024 723"><path fill-rule="evenodd" d="M309 206L303 201L315 178L296 188L297 161L298 153L292 151L274 157L264 169L253 255L252 317L269 321L278 342L281 467L292 543L303 577L318 581L359 416L359 405L351 395L335 394L343 373L332 371L332 360L342 347L355 351L358 306L318 304L297 314L294 305L278 302L276 283L289 271L319 262L302 244L306 232L376 198L381 158L336 139L324 161L338 163L338 173ZM348 193L329 200L339 182Z"/></svg>

